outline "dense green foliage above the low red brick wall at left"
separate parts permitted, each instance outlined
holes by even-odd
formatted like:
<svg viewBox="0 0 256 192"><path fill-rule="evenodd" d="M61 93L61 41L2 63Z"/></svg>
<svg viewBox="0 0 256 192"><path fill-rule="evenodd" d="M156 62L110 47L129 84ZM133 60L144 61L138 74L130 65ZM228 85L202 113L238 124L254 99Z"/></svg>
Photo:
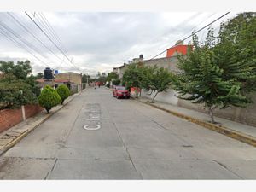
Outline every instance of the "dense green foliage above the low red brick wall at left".
<svg viewBox="0 0 256 192"><path fill-rule="evenodd" d="M30 84L17 79L13 74L2 74L0 77L0 109L20 108L21 105L36 104L36 95Z"/></svg>

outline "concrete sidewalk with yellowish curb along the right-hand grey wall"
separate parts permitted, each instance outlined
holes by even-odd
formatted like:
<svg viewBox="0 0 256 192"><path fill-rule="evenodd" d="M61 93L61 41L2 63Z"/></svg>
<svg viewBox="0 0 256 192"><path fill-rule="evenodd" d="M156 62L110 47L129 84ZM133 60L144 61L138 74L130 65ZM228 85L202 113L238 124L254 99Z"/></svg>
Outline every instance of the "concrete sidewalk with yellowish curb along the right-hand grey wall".
<svg viewBox="0 0 256 192"><path fill-rule="evenodd" d="M256 147L256 127L250 125L244 125L235 121L228 119L222 119L215 117L218 124L212 124L209 122L210 117L206 113L200 113L195 110L190 110L187 108L181 108L174 106L172 104L157 102L148 102L148 98L141 97L137 99L139 102L146 103L154 108L159 108L165 110L168 113L172 113L183 119L188 119L198 125L202 125L213 131L218 131L228 137L236 138L241 142L248 143Z"/></svg>

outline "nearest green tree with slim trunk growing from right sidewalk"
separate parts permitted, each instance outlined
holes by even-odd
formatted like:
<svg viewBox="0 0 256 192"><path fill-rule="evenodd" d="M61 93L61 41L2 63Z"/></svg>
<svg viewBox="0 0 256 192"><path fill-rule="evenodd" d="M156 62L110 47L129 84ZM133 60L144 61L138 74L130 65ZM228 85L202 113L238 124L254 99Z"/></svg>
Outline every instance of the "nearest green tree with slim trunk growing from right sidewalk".
<svg viewBox="0 0 256 192"><path fill-rule="evenodd" d="M215 38L212 27L209 28L207 41L200 46L193 35L194 51L186 56L178 56L177 73L174 88L179 98L194 103L204 103L208 108L211 122L214 123L213 110L227 108L230 105L245 107L246 96L241 95L241 83L236 79L225 79L224 69L216 61L214 54Z"/></svg>

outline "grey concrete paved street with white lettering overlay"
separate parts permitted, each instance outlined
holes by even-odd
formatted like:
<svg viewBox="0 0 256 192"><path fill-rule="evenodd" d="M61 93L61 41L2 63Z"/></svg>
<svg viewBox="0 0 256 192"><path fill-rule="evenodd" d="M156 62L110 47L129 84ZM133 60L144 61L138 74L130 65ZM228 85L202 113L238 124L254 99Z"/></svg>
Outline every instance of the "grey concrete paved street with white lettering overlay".
<svg viewBox="0 0 256 192"><path fill-rule="evenodd" d="M255 179L256 148L85 90L0 157L0 179Z"/></svg>

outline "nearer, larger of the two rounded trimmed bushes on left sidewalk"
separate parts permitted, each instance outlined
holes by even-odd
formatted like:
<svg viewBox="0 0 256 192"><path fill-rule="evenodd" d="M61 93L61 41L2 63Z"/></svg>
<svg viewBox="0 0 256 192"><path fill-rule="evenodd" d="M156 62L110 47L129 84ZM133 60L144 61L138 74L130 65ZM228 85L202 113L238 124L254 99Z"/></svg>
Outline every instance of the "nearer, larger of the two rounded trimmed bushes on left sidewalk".
<svg viewBox="0 0 256 192"><path fill-rule="evenodd" d="M61 96L59 96L56 90L46 85L38 97L38 102L49 113L52 107L61 103Z"/></svg>

